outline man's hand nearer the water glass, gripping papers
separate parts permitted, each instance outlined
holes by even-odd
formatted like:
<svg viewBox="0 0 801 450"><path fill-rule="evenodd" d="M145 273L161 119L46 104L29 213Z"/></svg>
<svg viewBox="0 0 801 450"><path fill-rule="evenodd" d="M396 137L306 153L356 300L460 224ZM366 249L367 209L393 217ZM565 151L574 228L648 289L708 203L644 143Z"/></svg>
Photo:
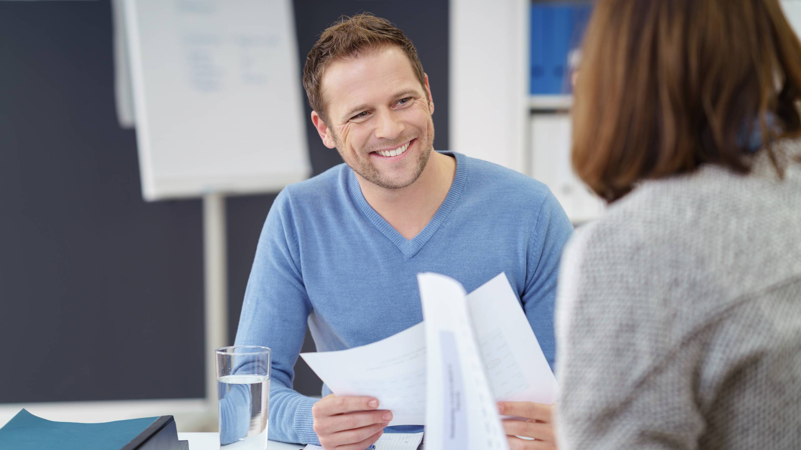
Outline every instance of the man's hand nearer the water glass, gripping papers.
<svg viewBox="0 0 801 450"><path fill-rule="evenodd" d="M314 431L324 450L364 450L375 444L392 420L372 397L324 396L312 407Z"/></svg>

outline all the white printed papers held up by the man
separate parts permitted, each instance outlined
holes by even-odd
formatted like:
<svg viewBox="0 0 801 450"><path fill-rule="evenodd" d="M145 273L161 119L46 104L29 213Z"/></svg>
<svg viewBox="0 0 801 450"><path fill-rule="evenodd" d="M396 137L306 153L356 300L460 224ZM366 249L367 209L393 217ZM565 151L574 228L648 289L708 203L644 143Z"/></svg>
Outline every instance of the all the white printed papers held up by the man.
<svg viewBox="0 0 801 450"><path fill-rule="evenodd" d="M558 388L520 300L502 273L470 295L445 275L417 283L423 323L301 356L336 396L376 397L389 426L425 424L430 448L508 450L495 402L553 404Z"/></svg>

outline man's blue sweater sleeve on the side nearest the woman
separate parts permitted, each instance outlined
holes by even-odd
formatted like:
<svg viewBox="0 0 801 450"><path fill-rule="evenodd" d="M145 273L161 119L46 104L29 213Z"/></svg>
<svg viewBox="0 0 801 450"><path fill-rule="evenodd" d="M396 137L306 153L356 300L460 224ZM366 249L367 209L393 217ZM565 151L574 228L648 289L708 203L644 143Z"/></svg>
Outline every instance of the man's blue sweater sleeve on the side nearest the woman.
<svg viewBox="0 0 801 450"><path fill-rule="evenodd" d="M551 370L556 359L553 309L559 261L562 249L572 234L573 225L562 205L547 191L537 211L537 223L529 237L526 281L521 302Z"/></svg>

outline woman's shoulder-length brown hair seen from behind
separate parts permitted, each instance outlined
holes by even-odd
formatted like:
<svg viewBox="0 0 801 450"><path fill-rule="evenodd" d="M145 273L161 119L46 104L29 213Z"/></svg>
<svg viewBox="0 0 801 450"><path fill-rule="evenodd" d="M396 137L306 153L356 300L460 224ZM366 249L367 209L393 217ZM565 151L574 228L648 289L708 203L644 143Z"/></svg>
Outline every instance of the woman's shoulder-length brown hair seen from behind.
<svg viewBox="0 0 801 450"><path fill-rule="evenodd" d="M607 201L703 163L747 173L759 147L780 170L801 44L778 0L598 0L574 93L573 165Z"/></svg>

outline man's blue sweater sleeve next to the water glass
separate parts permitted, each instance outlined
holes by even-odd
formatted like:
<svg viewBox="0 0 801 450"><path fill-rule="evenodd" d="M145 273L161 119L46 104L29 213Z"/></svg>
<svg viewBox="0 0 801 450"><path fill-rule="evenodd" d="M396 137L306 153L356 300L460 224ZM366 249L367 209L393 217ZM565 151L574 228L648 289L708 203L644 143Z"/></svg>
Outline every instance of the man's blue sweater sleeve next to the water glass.
<svg viewBox="0 0 801 450"><path fill-rule="evenodd" d="M264 223L245 291L236 345L272 349L269 437L318 444L312 429L315 399L292 390L294 366L312 307L304 287L292 200L284 189ZM222 412L222 410L221 410Z"/></svg>

